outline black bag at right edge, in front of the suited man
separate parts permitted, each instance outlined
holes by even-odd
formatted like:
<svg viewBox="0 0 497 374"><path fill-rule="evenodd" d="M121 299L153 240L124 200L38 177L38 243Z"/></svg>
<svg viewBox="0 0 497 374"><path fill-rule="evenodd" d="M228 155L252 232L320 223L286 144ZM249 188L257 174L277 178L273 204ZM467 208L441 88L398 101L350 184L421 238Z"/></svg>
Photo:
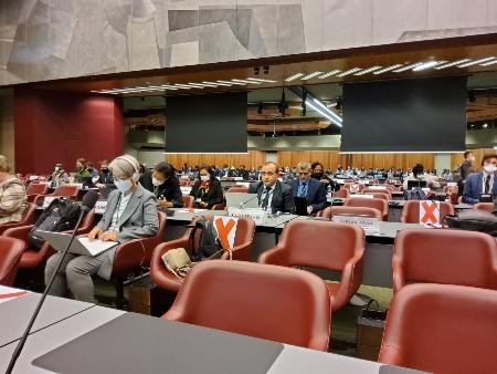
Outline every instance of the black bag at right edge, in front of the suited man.
<svg viewBox="0 0 497 374"><path fill-rule="evenodd" d="M466 209L455 216L445 216L445 224L453 229L487 232L497 236L497 217L482 209Z"/></svg>

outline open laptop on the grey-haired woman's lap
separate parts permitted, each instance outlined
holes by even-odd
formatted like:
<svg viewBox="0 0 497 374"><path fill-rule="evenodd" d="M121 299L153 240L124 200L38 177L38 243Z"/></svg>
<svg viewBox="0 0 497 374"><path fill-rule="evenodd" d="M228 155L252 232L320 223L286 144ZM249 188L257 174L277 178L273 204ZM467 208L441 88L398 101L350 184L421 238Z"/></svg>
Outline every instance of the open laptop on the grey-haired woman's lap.
<svg viewBox="0 0 497 374"><path fill-rule="evenodd" d="M65 232L52 232L38 230L36 233L45 239L55 250L62 252L67 246L71 235ZM87 236L75 237L71 248L70 253L74 254L86 254L86 256L97 256L106 250L119 245L117 241L102 241L98 239L89 241Z"/></svg>

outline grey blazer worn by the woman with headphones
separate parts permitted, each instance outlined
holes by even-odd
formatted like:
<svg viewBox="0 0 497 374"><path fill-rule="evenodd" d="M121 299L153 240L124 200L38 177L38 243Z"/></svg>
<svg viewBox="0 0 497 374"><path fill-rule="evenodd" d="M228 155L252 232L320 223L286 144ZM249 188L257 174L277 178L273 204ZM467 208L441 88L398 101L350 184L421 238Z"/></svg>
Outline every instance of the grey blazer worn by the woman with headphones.
<svg viewBox="0 0 497 374"><path fill-rule="evenodd" d="M113 190L107 198L107 207L104 217L97 226L104 231L108 230L113 221L114 211L117 208L120 193ZM152 193L149 193L140 185L133 193L129 202L119 218L119 231L117 241L119 243L144 237L152 237L159 231L159 215L157 212L157 201ZM104 279L110 279L113 272L114 256L116 248L113 248L99 254L104 257L104 262L98 268L98 276Z"/></svg>

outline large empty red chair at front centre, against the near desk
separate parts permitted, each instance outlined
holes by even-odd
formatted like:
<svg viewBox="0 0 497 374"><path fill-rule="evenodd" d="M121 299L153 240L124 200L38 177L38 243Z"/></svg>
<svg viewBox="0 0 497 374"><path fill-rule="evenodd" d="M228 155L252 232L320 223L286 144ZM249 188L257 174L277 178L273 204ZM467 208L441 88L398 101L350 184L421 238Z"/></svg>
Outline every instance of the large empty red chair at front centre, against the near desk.
<svg viewBox="0 0 497 374"><path fill-rule="evenodd" d="M326 352L331 310L307 271L212 260L193 267L163 318Z"/></svg>

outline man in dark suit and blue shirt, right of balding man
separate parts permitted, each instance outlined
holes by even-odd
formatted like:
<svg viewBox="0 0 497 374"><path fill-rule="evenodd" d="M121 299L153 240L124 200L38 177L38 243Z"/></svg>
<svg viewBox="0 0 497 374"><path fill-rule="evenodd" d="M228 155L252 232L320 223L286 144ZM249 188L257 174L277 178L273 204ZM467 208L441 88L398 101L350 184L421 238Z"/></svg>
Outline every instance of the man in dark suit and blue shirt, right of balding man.
<svg viewBox="0 0 497 374"><path fill-rule="evenodd" d="M317 179L310 177L313 169L309 163L298 163L298 179L293 180L293 197L305 197L307 199L307 212L317 214L325 208L326 189Z"/></svg>

